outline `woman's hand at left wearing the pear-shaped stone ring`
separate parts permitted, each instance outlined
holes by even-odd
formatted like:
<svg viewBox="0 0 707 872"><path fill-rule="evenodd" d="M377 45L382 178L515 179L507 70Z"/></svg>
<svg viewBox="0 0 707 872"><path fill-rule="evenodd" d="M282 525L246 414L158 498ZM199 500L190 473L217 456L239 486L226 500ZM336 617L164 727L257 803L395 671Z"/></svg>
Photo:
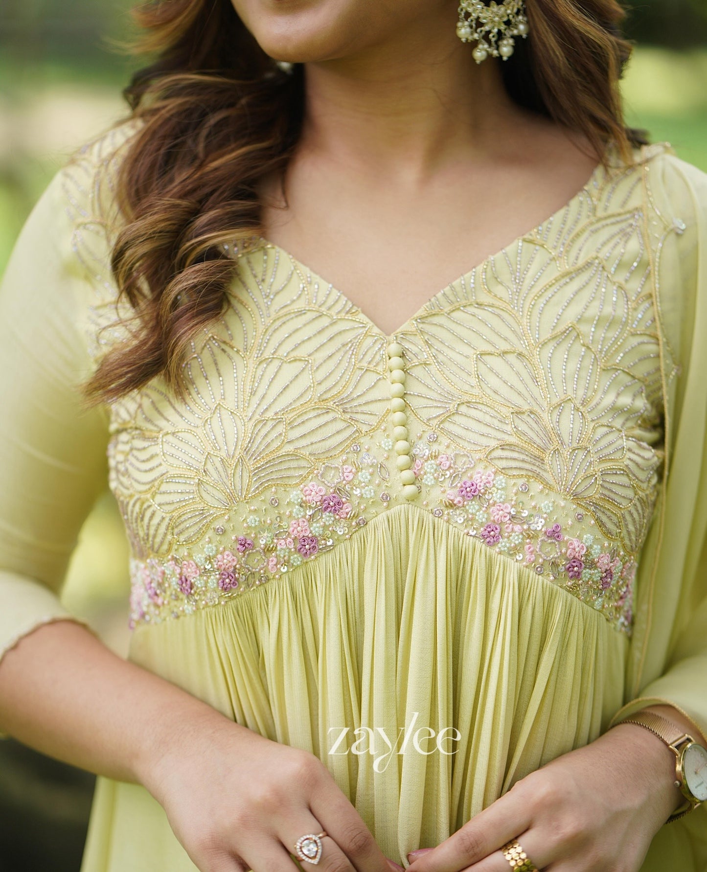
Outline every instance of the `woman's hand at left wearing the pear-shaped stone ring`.
<svg viewBox="0 0 707 872"><path fill-rule="evenodd" d="M322 872L402 872L314 754L221 716L175 732L143 783L201 872L295 872L295 842L322 831Z"/></svg>

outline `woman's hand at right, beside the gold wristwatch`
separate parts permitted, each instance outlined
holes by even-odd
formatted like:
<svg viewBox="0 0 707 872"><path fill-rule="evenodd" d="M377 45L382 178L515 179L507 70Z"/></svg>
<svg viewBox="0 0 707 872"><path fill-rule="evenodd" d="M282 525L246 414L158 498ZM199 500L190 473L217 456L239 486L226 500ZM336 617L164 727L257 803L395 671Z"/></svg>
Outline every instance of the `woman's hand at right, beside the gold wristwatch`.
<svg viewBox="0 0 707 872"><path fill-rule="evenodd" d="M500 848L513 839L537 869L637 872L682 801L670 748L621 724L518 781L436 848L411 852L408 872L508 872Z"/></svg>

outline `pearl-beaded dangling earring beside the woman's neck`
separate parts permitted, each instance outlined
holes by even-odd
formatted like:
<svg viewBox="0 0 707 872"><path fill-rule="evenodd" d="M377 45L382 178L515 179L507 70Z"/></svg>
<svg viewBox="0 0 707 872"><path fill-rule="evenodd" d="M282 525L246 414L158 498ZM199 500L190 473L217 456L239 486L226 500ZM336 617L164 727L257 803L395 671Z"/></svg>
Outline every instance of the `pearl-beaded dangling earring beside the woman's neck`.
<svg viewBox="0 0 707 872"><path fill-rule="evenodd" d="M489 56L507 60L515 50L513 37L527 37L525 0L460 0L457 36L463 43L478 42L473 59L481 64Z"/></svg>

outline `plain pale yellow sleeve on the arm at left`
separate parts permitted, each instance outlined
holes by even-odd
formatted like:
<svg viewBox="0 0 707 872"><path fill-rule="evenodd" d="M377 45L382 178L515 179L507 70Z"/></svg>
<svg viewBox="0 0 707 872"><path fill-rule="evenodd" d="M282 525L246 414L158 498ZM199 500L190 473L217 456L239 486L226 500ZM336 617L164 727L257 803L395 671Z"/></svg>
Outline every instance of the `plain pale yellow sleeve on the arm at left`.
<svg viewBox="0 0 707 872"><path fill-rule="evenodd" d="M94 281L66 179L37 202L0 283L0 658L40 624L85 624L59 594L107 480L105 407L87 410L80 393Z"/></svg>

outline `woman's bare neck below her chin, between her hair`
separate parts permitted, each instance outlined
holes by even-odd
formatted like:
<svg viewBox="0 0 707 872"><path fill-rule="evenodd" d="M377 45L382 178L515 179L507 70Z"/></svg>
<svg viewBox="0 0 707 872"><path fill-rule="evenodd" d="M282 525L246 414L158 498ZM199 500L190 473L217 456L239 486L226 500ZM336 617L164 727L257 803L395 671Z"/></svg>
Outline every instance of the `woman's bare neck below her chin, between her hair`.
<svg viewBox="0 0 707 872"><path fill-rule="evenodd" d="M301 147L389 181L424 181L470 151L498 155L521 112L500 65L477 65L453 21L438 31L432 24L418 23L395 44L305 65Z"/></svg>

